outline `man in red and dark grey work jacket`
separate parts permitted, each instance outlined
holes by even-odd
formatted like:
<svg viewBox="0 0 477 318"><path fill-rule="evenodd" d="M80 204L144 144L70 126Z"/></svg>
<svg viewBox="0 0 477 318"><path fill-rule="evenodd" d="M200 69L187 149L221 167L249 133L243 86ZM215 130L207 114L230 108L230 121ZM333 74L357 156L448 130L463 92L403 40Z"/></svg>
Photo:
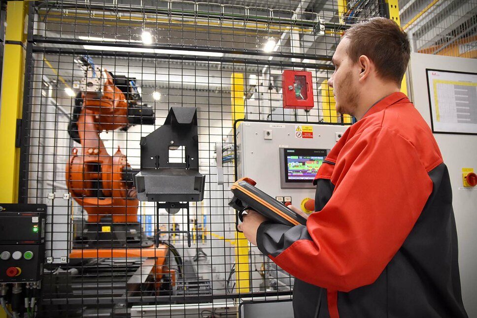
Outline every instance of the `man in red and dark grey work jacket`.
<svg viewBox="0 0 477 318"><path fill-rule="evenodd" d="M373 18L346 31L328 81L354 116L320 167L307 225L249 211L240 229L295 276L295 317L465 318L447 167L400 93L407 34ZM294 208L296 211L298 209Z"/></svg>

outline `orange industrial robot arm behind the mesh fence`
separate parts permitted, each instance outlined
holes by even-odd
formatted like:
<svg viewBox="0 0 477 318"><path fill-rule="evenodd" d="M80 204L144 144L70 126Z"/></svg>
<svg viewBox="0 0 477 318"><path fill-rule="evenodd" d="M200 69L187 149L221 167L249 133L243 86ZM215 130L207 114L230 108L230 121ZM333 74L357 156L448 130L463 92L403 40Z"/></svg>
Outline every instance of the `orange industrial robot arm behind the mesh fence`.
<svg viewBox="0 0 477 318"><path fill-rule="evenodd" d="M137 222L136 189L125 178L132 169L119 147L110 156L100 138L103 130L131 125L130 108L137 108L137 103L131 106L125 92L115 85L112 74L94 67L94 64L85 65L86 76L82 80L81 93L83 103L79 106L81 111L76 114L75 123L75 140L81 147L74 148L69 158L68 190L88 213L88 222L100 222L105 215L111 215L113 223ZM101 76L92 77L91 74ZM149 113L153 120L152 109Z"/></svg>

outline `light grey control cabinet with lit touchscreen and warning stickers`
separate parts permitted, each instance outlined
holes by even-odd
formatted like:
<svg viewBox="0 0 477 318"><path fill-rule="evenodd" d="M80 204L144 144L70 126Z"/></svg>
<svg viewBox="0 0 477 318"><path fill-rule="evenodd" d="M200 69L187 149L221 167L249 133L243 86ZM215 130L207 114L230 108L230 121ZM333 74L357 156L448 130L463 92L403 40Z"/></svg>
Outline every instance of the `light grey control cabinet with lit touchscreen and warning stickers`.
<svg viewBox="0 0 477 318"><path fill-rule="evenodd" d="M348 126L241 122L236 131L237 176L285 205L311 212L312 181ZM308 204L307 204L308 203Z"/></svg>

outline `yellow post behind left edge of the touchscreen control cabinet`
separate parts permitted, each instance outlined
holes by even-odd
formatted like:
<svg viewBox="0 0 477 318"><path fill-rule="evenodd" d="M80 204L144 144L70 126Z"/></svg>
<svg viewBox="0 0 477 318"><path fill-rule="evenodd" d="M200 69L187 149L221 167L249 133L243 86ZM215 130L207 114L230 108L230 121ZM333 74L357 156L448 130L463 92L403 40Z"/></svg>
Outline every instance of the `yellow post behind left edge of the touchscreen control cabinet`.
<svg viewBox="0 0 477 318"><path fill-rule="evenodd" d="M238 119L245 118L245 101L243 97L244 81L243 73L232 73L231 75L231 89L232 89L232 125ZM221 156L221 154L217 154ZM250 260L248 258L249 245L243 233L235 232L235 241L237 242L235 248L235 267L237 277L237 292L246 293L250 291Z"/></svg>

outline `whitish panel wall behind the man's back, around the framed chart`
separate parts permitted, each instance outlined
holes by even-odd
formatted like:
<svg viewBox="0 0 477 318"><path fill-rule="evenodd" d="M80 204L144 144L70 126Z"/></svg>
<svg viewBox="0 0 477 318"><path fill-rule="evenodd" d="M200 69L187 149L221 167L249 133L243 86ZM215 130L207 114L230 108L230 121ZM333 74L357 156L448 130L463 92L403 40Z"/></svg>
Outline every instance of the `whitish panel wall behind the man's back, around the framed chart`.
<svg viewBox="0 0 477 318"><path fill-rule="evenodd" d="M477 61L418 53L411 55L410 98L431 126L426 68L477 73ZM435 133L434 137L449 169L452 185L464 305L469 317L477 317L477 190L463 189L462 184L462 168L477 171L477 135Z"/></svg>

